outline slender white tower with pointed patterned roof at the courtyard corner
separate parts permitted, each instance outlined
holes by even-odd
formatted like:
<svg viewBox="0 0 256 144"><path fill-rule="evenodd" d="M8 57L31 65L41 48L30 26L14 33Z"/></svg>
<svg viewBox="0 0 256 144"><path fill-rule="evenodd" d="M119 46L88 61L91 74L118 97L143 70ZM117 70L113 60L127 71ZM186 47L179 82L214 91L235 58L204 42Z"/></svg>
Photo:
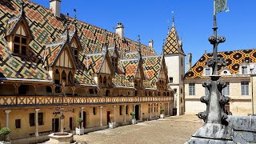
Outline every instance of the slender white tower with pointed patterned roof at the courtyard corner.
<svg viewBox="0 0 256 144"><path fill-rule="evenodd" d="M174 25L171 26L165 45L162 48L162 54L164 54L166 66L168 70L169 86L170 89L175 91L174 94L174 114L177 110L177 115L184 114L184 82L183 77L185 74L185 53L182 49L182 41L178 38L178 33Z"/></svg>

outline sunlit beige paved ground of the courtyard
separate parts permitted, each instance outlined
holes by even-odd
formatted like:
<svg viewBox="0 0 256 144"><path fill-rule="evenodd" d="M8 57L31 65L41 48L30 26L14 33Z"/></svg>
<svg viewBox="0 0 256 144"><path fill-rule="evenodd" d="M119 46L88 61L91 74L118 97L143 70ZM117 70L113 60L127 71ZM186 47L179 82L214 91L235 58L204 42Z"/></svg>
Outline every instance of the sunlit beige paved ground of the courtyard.
<svg viewBox="0 0 256 144"><path fill-rule="evenodd" d="M189 140L191 134L202 124L202 120L195 115L182 115L99 130L81 136L74 135L74 140L86 144L181 144Z"/></svg>

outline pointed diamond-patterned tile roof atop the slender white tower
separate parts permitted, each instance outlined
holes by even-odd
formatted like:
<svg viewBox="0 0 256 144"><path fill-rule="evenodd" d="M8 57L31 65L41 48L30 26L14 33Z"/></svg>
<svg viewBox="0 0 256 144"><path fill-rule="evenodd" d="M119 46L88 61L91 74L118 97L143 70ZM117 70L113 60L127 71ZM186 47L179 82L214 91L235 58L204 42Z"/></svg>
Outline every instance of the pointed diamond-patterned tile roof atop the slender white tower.
<svg viewBox="0 0 256 144"><path fill-rule="evenodd" d="M182 46L179 43L178 33L175 26L171 27L167 35L166 45L164 46L164 54L184 54Z"/></svg>

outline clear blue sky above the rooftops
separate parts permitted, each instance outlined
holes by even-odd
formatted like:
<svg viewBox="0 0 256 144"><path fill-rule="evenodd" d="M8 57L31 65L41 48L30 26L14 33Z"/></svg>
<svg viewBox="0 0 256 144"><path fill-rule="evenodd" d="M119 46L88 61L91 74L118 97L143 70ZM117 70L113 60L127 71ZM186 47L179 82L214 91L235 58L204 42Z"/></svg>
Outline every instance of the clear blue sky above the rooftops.
<svg viewBox="0 0 256 144"><path fill-rule="evenodd" d="M30 0L49 7L49 0ZM218 35L226 37L226 42L218 46L218 51L256 48L256 1L229 0L230 12L217 15ZM208 37L213 34L213 0L62 0L62 13L114 32L114 26L122 22L125 37L135 41L138 34L142 43L148 45L154 40L154 49L162 51L162 40L168 32L168 20L172 26L174 11L175 27L182 38L183 50L193 54L193 63L207 52L212 52Z"/></svg>

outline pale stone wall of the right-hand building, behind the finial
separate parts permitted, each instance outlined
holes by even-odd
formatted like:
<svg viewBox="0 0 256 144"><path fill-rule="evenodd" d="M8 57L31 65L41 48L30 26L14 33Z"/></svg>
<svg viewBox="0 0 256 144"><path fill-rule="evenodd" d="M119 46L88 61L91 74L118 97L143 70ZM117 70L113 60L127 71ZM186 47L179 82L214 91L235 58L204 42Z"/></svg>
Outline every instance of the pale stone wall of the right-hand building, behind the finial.
<svg viewBox="0 0 256 144"><path fill-rule="evenodd" d="M185 103L186 114L198 114L206 110L204 103L200 102L200 98L205 95L205 88L202 82L207 81L206 78L186 79L185 80ZM256 90L256 78L254 85L251 84L249 76L241 77L222 77L222 81L230 82L230 111L236 115L252 114L252 86ZM195 95L190 95L189 83L195 83ZM242 95L241 82L249 82L249 95ZM255 95L255 94L254 94ZM202 103L202 104L200 104ZM255 103L255 102L254 102Z"/></svg>

